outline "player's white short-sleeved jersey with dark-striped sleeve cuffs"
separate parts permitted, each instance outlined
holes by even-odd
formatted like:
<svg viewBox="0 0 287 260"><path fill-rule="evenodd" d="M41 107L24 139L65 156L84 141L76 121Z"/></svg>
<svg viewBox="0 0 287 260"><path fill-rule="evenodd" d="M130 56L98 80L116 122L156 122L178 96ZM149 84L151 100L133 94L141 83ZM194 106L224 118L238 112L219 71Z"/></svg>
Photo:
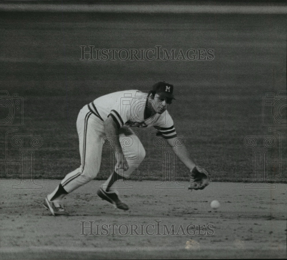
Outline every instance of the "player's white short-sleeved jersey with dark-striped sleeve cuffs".
<svg viewBox="0 0 287 260"><path fill-rule="evenodd" d="M118 91L96 98L88 107L102 121L112 117L118 128L156 127L159 130L158 135L164 138L175 137L177 133L167 110L147 119L144 117L149 95L150 92L139 90Z"/></svg>

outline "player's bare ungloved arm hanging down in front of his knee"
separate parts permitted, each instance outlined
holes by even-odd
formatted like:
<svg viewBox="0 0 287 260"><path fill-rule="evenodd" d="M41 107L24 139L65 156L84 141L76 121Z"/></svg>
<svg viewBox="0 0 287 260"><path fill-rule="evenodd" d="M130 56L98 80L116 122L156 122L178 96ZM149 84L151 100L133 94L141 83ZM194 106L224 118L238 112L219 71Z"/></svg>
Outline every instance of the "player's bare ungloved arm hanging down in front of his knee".
<svg viewBox="0 0 287 260"><path fill-rule="evenodd" d="M109 116L108 119L104 121L104 129L106 135L108 135L110 138L113 139L114 148L116 148L119 151L119 154L122 154L123 150L119 141L119 127L118 123L115 122L114 117ZM118 168L122 168L125 171L129 168L127 161L125 160L125 158L122 158L121 156L118 156L117 158L117 166Z"/></svg>

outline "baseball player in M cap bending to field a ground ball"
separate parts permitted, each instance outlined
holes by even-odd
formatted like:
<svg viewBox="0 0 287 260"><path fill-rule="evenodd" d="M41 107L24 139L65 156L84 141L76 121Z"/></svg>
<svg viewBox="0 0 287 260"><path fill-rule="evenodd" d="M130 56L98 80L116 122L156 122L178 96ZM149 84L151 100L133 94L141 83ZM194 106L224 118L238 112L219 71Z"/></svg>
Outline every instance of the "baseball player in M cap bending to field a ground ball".
<svg viewBox="0 0 287 260"><path fill-rule="evenodd" d="M177 137L173 120L166 110L174 98L174 86L165 82L156 83L151 91L126 90L114 92L96 98L85 105L77 117L81 166L65 176L56 189L47 195L44 207L56 215L66 214L62 199L78 187L94 179L99 170L102 146L105 137L111 138L113 147L118 151L113 174L106 180L97 195L114 204L115 207L128 210L117 191L111 191L113 183L126 179L138 167L145 157L145 149L137 135L129 127L156 127L158 135L174 147ZM123 140L132 139L131 145L123 149ZM208 172L200 169L189 158L185 146L177 147L177 156L190 170L189 189L203 189L209 184Z"/></svg>

